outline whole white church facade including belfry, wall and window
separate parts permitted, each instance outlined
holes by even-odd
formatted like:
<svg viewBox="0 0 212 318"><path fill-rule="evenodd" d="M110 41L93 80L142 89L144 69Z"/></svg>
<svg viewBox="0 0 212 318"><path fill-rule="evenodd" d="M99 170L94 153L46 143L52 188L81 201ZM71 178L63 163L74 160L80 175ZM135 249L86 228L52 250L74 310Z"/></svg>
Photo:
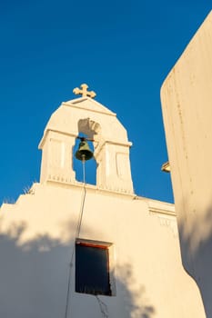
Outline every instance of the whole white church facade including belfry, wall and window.
<svg viewBox="0 0 212 318"><path fill-rule="evenodd" d="M206 317L174 205L134 193L126 129L81 93L46 124L40 182L1 206L0 316ZM76 180L79 134L94 141L95 185Z"/></svg>

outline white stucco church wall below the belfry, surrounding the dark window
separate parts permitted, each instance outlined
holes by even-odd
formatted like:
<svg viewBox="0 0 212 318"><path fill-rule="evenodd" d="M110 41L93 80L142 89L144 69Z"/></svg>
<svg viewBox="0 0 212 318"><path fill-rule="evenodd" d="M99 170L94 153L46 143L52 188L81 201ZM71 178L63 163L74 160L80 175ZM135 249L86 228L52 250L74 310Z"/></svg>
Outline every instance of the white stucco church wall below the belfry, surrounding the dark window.
<svg viewBox="0 0 212 318"><path fill-rule="evenodd" d="M82 192L34 184L32 194L3 204L1 316L64 317ZM204 317L197 286L181 265L172 204L87 185L80 237L113 243L116 296L100 296L108 317ZM69 310L75 318L101 316L95 296L75 293L75 268Z"/></svg>

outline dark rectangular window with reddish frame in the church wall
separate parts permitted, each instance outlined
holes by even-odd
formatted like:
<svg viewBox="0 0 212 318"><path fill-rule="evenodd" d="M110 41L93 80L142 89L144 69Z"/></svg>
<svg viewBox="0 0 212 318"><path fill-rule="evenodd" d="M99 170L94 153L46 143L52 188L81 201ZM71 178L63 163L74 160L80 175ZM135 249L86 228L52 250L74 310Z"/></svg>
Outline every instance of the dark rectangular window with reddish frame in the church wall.
<svg viewBox="0 0 212 318"><path fill-rule="evenodd" d="M90 240L76 240L76 292L111 296L109 246Z"/></svg>

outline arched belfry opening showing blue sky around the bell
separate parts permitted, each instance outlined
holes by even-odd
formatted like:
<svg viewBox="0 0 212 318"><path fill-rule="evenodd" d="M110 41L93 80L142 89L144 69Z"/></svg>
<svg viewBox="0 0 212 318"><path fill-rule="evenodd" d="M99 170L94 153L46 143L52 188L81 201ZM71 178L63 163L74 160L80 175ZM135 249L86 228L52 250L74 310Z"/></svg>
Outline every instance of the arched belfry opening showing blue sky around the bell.
<svg viewBox="0 0 212 318"><path fill-rule="evenodd" d="M89 136L83 133L78 134L79 137L85 137L89 139ZM76 181L83 182L84 175L83 175L83 163L82 161L76 159L76 151L78 150L80 144L80 139L76 138L76 144L73 149L73 168L76 172ZM90 150L94 154L94 144L91 141L87 141ZM95 158L91 158L90 160L86 160L85 164L85 171L86 171L86 184L96 184L96 160Z"/></svg>

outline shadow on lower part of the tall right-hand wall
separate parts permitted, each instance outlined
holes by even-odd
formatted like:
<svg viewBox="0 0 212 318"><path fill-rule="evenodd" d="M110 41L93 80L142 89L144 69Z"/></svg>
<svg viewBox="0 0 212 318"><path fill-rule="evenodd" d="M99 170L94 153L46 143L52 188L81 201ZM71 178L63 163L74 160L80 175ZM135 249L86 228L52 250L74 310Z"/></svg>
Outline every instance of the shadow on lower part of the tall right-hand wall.
<svg viewBox="0 0 212 318"><path fill-rule="evenodd" d="M212 204L207 212L193 213L193 219L178 221L182 263L199 287L207 317L212 317Z"/></svg>

